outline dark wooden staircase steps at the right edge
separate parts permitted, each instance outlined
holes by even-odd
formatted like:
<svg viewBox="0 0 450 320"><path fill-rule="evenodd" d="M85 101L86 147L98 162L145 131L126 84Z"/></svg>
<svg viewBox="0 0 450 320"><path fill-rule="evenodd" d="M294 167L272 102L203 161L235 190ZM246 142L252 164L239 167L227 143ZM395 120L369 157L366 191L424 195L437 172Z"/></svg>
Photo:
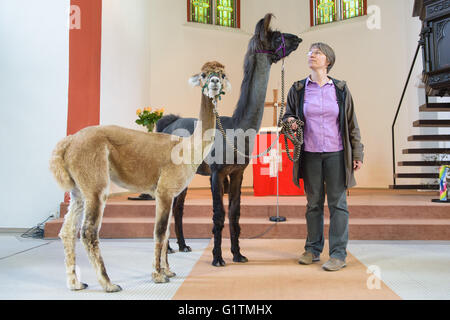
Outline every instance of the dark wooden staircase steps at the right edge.
<svg viewBox="0 0 450 320"><path fill-rule="evenodd" d="M450 112L450 103L428 103L419 107L420 112ZM433 128L450 128L450 119L442 120L417 120L413 122L413 127L433 127ZM434 135L412 135L408 137L408 141L450 141L449 134ZM403 154L423 154L423 155L450 155L450 148L413 148L403 149ZM394 164L395 165L395 164ZM441 165L450 165L450 157L445 160L434 161L400 161L397 163L400 167L439 167ZM394 184L390 185L390 189L416 189L416 190L439 190L438 178L436 173L396 173L394 174ZM434 184L397 184L397 179L435 179Z"/></svg>

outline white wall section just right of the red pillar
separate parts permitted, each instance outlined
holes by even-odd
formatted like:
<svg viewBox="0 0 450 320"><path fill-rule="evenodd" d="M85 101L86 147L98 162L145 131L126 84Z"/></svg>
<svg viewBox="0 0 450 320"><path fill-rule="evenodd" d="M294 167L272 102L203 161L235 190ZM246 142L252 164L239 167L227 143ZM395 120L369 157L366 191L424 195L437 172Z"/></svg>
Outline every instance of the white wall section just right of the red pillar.
<svg viewBox="0 0 450 320"><path fill-rule="evenodd" d="M136 109L150 105L150 1L108 0L102 7L100 124L144 130ZM111 184L110 193L126 192Z"/></svg>

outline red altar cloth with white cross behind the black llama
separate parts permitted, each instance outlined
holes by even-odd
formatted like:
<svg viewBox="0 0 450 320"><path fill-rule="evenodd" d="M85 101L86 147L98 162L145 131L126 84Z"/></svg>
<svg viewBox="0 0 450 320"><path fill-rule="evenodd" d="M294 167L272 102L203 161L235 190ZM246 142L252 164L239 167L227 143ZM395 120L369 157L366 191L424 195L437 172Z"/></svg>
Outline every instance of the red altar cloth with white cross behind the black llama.
<svg viewBox="0 0 450 320"><path fill-rule="evenodd" d="M262 128L256 136L253 155L257 155L270 146L276 139L276 128ZM271 152L258 159L253 159L253 190L255 196L271 196L277 194L277 171L278 171L278 194L280 196L304 195L303 180L300 180L301 189L292 181L293 162L288 159L285 150L284 135L279 136L281 157L275 145ZM294 145L288 141L289 151L292 153Z"/></svg>

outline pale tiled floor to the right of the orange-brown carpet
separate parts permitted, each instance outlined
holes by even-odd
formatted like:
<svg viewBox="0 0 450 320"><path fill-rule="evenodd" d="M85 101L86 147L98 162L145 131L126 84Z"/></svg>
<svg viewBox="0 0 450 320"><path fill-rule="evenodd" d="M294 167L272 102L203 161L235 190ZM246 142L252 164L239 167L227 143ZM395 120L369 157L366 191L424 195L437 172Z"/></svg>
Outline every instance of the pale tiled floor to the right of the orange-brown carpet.
<svg viewBox="0 0 450 320"><path fill-rule="evenodd" d="M403 299L450 299L450 241L354 240L348 251Z"/></svg>

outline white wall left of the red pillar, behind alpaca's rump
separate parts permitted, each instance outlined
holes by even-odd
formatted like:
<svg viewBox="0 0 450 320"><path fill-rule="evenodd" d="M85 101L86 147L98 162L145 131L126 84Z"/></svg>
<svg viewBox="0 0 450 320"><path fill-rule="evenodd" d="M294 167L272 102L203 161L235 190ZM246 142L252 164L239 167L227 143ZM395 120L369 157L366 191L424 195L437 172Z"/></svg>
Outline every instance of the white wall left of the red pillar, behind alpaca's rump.
<svg viewBox="0 0 450 320"><path fill-rule="evenodd" d="M48 170L66 135L69 0L0 0L0 227L26 228L58 210Z"/></svg>

